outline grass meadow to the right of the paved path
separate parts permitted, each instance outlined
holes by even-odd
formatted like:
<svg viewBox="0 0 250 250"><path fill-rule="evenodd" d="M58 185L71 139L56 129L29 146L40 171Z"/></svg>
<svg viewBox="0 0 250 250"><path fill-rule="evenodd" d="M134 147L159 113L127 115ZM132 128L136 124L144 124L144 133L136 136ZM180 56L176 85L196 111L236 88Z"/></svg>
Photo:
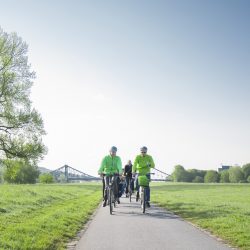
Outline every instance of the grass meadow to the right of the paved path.
<svg viewBox="0 0 250 250"><path fill-rule="evenodd" d="M249 184L152 183L151 200L219 236L250 249Z"/></svg>

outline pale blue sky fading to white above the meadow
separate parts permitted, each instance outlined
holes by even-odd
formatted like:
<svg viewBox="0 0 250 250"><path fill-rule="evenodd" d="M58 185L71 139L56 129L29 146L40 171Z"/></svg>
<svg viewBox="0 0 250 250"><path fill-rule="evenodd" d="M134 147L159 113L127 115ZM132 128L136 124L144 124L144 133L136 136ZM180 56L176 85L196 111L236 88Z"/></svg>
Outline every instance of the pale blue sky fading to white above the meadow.
<svg viewBox="0 0 250 250"><path fill-rule="evenodd" d="M0 0L28 44L48 154L97 175L148 147L171 173L250 162L250 1Z"/></svg>

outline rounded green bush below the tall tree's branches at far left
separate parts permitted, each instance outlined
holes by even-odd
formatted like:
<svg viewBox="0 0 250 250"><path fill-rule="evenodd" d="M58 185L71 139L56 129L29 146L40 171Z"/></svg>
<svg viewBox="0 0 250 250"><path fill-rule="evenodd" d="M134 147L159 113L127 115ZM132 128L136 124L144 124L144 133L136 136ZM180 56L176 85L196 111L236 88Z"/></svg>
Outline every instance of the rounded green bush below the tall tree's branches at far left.
<svg viewBox="0 0 250 250"><path fill-rule="evenodd" d="M6 159L4 165L4 180L9 183L35 183L39 176L38 168L24 160Z"/></svg>

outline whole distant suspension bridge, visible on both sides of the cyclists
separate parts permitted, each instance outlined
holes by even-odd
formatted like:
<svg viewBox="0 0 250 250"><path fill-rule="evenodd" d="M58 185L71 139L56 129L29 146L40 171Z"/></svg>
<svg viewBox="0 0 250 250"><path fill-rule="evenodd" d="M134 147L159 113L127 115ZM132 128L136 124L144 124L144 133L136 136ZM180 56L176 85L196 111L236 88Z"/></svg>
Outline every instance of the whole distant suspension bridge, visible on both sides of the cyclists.
<svg viewBox="0 0 250 250"><path fill-rule="evenodd" d="M171 175L156 169L152 168L151 172L154 174L151 176L152 181L169 181L169 177ZM56 181L99 181L101 178L95 177L89 174L86 174L80 170L77 170L75 168L72 168L68 165L64 165L56 170L53 170L50 172L50 174L53 175Z"/></svg>

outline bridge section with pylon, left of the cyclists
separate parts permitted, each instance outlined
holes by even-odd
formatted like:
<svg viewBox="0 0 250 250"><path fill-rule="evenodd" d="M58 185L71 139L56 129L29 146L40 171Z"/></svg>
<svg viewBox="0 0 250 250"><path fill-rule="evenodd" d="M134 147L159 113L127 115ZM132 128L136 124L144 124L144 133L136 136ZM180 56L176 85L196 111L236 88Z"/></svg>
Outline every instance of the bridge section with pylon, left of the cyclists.
<svg viewBox="0 0 250 250"><path fill-rule="evenodd" d="M56 170L50 172L56 181L98 181L101 180L99 177L86 174L80 170L72 168L68 165L64 165Z"/></svg>

